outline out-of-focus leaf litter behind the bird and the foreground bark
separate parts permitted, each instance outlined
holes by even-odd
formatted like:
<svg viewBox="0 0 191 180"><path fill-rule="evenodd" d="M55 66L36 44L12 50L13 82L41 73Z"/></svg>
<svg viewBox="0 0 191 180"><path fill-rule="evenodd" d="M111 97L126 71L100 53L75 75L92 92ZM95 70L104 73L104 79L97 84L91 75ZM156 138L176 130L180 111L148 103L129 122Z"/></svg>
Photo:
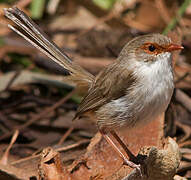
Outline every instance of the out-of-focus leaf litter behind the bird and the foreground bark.
<svg viewBox="0 0 191 180"><path fill-rule="evenodd" d="M176 90L164 135L175 138L183 153L177 175L191 178L191 0L0 0L0 157L18 129L9 160L82 142L67 151L63 162L68 165L97 131L91 121L71 121L84 92L69 94L74 85L64 78L68 72L7 28L12 22L3 8L13 5L94 75L138 35L163 33L183 44L184 50L173 55Z"/></svg>

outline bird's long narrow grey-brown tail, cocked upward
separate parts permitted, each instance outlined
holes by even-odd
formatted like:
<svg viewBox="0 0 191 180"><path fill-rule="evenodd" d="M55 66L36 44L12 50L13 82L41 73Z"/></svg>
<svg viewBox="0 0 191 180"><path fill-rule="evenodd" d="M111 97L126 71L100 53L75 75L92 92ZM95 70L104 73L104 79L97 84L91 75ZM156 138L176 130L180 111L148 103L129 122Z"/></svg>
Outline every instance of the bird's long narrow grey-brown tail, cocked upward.
<svg viewBox="0 0 191 180"><path fill-rule="evenodd" d="M8 24L8 27L17 34L26 39L29 43L46 54L50 59L67 69L71 77L70 79L77 83L77 85L90 87L94 76L88 73L78 64L71 61L71 59L61 51L61 49L52 42L48 36L29 18L23 11L17 7L4 9L5 16L17 24L14 27Z"/></svg>

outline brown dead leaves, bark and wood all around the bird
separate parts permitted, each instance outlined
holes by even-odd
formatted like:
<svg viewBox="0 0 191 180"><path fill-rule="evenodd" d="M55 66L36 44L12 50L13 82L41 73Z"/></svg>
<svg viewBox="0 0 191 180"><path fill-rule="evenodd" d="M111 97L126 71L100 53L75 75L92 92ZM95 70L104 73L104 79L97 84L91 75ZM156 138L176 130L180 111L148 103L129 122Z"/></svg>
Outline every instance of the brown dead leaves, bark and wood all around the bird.
<svg viewBox="0 0 191 180"><path fill-rule="evenodd" d="M190 178L191 6L168 34L185 47L173 56L176 89L168 110L144 127L119 132L142 157L145 174L139 177L96 133L91 120L72 122L84 90L75 89L66 70L7 28L2 8L16 4L30 15L30 3L0 3L0 179ZM38 24L74 61L97 74L133 37L162 32L181 3L118 0L103 10L89 0L50 0Z"/></svg>

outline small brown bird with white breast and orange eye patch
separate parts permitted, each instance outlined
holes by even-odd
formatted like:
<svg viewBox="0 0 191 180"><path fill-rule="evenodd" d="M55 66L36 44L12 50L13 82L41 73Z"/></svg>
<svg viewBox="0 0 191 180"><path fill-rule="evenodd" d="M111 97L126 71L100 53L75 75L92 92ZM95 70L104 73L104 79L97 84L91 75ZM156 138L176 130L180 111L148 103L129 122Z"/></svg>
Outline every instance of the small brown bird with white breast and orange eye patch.
<svg viewBox="0 0 191 180"><path fill-rule="evenodd" d="M120 140L115 130L136 127L155 119L170 102L174 83L171 52L183 49L161 34L134 38L122 49L117 60L96 77L85 71L63 53L40 28L18 8L5 9L5 16L21 29L9 27L33 44L56 63L67 69L71 80L87 88L87 94L76 116L94 114L97 126L124 162L139 169L127 160L110 138L112 135L129 155L135 157Z"/></svg>

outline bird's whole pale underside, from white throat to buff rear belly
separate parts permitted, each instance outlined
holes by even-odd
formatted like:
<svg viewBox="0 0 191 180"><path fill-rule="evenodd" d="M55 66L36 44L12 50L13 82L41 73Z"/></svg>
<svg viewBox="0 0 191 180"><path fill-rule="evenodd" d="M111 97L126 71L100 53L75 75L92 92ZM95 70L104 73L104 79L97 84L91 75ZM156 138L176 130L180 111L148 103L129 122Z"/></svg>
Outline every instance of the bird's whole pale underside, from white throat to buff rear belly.
<svg viewBox="0 0 191 180"><path fill-rule="evenodd" d="M164 112L170 102L174 83L170 53L158 55L155 62L134 63L137 82L126 95L105 104L97 111L98 125L131 128L146 124ZM107 109L107 111L106 111Z"/></svg>

